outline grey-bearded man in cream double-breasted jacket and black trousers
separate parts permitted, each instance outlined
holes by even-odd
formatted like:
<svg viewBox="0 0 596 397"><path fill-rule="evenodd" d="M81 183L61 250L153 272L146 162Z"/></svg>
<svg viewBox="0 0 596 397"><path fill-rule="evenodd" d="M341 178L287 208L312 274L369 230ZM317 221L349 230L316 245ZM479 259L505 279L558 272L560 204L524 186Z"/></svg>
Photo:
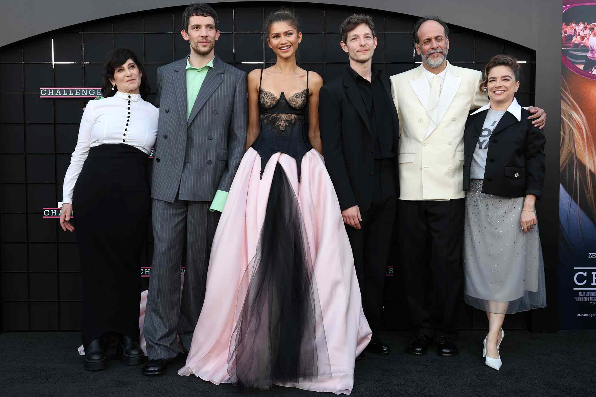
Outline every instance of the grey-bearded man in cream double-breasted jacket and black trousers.
<svg viewBox="0 0 596 397"><path fill-rule="evenodd" d="M420 18L414 41L423 64L390 79L400 134L399 243L415 333L407 352L415 355L432 343L440 356L459 354L451 335L462 281L464 126L471 109L489 102L481 72L446 60L448 35L441 18ZM541 126L544 111L534 111Z"/></svg>

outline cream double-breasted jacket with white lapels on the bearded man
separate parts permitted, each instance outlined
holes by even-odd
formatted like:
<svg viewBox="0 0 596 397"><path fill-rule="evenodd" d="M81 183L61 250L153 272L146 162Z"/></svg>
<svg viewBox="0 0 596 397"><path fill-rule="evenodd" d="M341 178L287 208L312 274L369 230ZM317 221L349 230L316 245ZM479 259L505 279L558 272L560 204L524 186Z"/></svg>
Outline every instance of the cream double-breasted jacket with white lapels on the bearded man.
<svg viewBox="0 0 596 397"><path fill-rule="evenodd" d="M464 198L465 120L471 109L488 104L488 96L479 89L482 73L447 63L434 126L423 67L390 77L399 117L399 198Z"/></svg>

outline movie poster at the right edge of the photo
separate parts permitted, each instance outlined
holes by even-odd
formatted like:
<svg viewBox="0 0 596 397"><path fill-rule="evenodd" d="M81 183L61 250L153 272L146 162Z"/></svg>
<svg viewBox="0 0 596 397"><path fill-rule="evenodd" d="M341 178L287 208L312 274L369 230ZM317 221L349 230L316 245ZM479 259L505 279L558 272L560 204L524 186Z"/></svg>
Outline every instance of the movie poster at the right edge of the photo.
<svg viewBox="0 0 596 397"><path fill-rule="evenodd" d="M563 0L559 328L596 328L596 1Z"/></svg>

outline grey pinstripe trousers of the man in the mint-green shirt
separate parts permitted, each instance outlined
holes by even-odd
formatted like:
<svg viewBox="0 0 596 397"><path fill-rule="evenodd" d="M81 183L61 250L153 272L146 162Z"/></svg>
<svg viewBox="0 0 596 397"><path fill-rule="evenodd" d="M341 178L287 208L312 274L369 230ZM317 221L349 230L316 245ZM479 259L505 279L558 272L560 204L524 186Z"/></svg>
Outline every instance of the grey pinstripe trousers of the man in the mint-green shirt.
<svg viewBox="0 0 596 397"><path fill-rule="evenodd" d="M190 349L221 215L210 212L209 205L209 201L153 200L153 262L143 327L149 359L174 359L178 355L176 334L185 352ZM180 268L184 263L181 293Z"/></svg>

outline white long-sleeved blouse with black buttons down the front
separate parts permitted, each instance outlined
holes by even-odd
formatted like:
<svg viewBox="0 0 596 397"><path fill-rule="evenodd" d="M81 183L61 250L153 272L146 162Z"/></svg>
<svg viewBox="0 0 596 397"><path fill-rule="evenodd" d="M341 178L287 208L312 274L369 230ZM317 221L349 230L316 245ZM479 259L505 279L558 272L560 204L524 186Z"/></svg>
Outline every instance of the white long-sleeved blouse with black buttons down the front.
<svg viewBox="0 0 596 397"><path fill-rule="evenodd" d="M64 176L63 203L73 203L73 190L90 148L103 144L128 144L148 156L157 138L158 116L159 108L142 100L140 94L118 91L113 97L89 101L80 120L75 151Z"/></svg>

